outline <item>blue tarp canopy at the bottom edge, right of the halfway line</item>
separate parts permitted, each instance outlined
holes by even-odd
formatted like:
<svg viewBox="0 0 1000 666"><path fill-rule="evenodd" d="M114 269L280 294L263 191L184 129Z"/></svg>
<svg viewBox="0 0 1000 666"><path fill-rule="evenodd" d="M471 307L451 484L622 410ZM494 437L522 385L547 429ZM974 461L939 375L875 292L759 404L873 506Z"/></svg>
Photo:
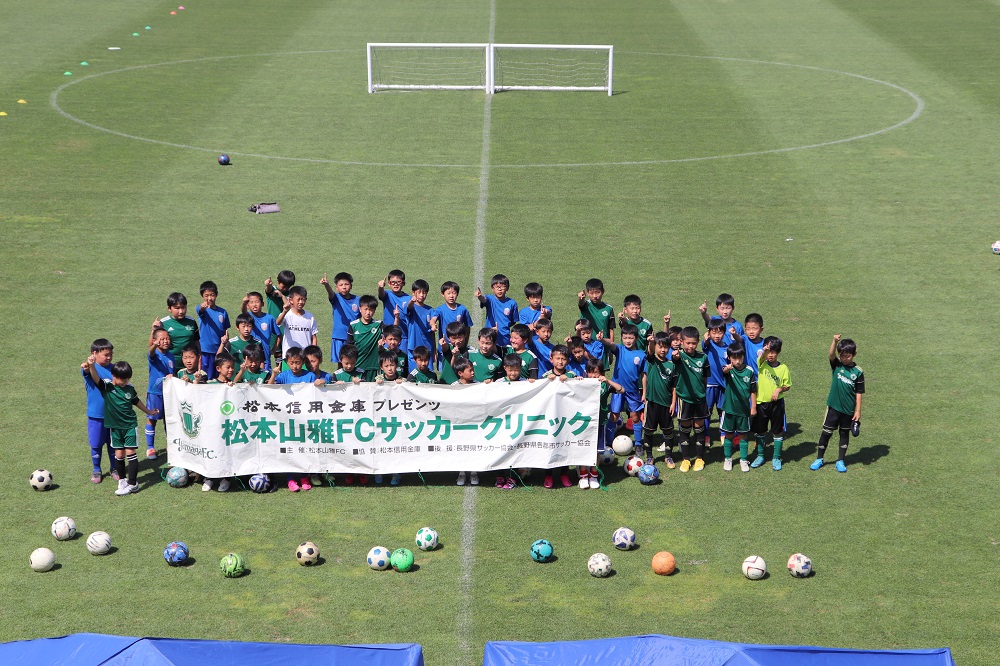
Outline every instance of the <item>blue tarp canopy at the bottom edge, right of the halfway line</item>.
<svg viewBox="0 0 1000 666"><path fill-rule="evenodd" d="M483 666L955 666L948 648L847 650L673 636L486 644Z"/></svg>

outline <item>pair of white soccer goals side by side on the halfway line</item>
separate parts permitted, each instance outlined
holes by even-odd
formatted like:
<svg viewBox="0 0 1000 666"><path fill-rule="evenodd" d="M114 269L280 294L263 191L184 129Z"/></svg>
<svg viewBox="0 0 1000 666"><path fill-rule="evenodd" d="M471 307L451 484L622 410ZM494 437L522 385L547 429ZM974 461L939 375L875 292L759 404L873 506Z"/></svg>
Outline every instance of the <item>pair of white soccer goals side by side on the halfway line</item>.
<svg viewBox="0 0 1000 666"><path fill-rule="evenodd" d="M592 90L611 95L614 47L592 44L368 44L368 92Z"/></svg>

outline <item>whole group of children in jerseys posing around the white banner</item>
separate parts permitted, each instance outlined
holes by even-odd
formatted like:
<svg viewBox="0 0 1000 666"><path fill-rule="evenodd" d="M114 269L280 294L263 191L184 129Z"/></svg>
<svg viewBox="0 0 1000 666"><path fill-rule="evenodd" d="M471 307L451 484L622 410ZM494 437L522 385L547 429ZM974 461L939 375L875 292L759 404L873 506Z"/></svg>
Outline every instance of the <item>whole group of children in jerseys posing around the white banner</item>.
<svg viewBox="0 0 1000 666"><path fill-rule="evenodd" d="M708 427L714 409L719 416L725 471L733 468L735 452L745 472L763 465L768 433L773 442L772 467L782 467L784 394L791 389L788 367L778 358L782 341L763 337L764 320L757 313L747 315L742 324L733 318L734 299L729 294L716 299L715 315L709 314L707 302L699 306L704 332L694 326L671 326L669 311L663 317L663 329L655 331L642 315L639 296L625 297L616 313L604 301L602 281L592 278L577 294L579 316L572 318L571 334L560 341L553 337L553 312L542 302L542 286L528 283L526 303L519 307L508 295L509 279L498 274L491 280L489 293L478 287L474 292L485 311L485 325L477 331L476 346L471 346L472 316L458 302L460 289L455 282L441 285L443 302L437 307L427 304L430 287L424 280L414 281L411 293L404 291L406 276L401 270L390 271L378 282L377 295L353 294L349 273L337 273L332 283L324 274L320 284L332 311L330 353L331 360L339 362L333 373L322 368L316 317L305 309L307 291L287 270L278 273L276 281L265 280L263 293L246 293L234 336L229 335L229 313L216 303L219 289L214 282L199 287L202 300L195 308L196 318L187 316L183 294L170 294L168 314L153 322L149 336L145 403L128 383L131 366L125 362L112 365L111 343L95 340L81 366L88 395L91 480L102 481L101 455L107 445L109 458L115 461L111 476L119 482L116 493L138 490L132 406L148 417L146 457L155 459L156 423L162 420L166 377L193 383L316 385L592 378L601 382L599 452L624 427L631 430L636 455L646 462L652 464L659 450L668 469L701 471L711 444ZM377 319L380 303L383 315ZM834 336L830 346L833 381L817 457L810 465L813 470L823 466L829 440L839 430L836 468L847 471L844 456L851 433L859 431L864 394L864 374L854 363L856 353L852 340ZM133 424L131 438L116 433L128 428L128 415ZM756 449L752 460L751 444ZM581 488L599 487L596 466L580 467L577 473ZM555 485L556 474L563 486L573 485L570 470L562 468L546 471L546 488ZM220 491L228 489L227 479L218 481ZM350 475L345 478L348 484L353 481ZM376 476L375 481L381 483L382 478ZM309 490L319 482L318 476L287 479L293 492ZM359 482L367 483L367 478L361 476ZM399 482L399 475L392 475L390 483ZM478 485L479 474L461 472L457 484L467 482ZM203 490L211 490L214 483L205 479ZM511 488L514 481L500 475L497 486Z"/></svg>

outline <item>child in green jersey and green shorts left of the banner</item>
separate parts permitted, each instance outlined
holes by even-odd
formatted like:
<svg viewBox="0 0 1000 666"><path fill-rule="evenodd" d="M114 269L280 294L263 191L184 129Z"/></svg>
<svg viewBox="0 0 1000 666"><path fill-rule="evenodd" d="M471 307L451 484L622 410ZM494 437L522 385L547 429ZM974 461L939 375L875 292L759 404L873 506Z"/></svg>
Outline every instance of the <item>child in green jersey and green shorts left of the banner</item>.
<svg viewBox="0 0 1000 666"><path fill-rule="evenodd" d="M104 395L104 426L111 431L111 448L115 452L115 471L118 472L118 489L115 495L124 496L139 492L139 458L136 455L135 431L138 421L135 418L134 407L146 416L155 416L157 409L147 409L135 388L129 383L132 379L132 366L126 361L118 361L111 366L111 379L102 379L94 367L97 364L96 354L91 354L85 364L90 378Z"/></svg>

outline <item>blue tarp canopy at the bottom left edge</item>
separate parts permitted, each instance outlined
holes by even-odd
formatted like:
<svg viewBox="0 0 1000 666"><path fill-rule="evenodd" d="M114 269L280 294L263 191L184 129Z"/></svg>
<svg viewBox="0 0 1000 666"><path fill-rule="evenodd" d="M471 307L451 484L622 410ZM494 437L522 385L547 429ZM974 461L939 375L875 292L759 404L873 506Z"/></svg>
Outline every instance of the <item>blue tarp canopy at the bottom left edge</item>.
<svg viewBox="0 0 1000 666"><path fill-rule="evenodd" d="M0 644L0 664L66 666L423 666L415 643L398 645L299 645L229 643L182 638L133 638L73 634Z"/></svg>

